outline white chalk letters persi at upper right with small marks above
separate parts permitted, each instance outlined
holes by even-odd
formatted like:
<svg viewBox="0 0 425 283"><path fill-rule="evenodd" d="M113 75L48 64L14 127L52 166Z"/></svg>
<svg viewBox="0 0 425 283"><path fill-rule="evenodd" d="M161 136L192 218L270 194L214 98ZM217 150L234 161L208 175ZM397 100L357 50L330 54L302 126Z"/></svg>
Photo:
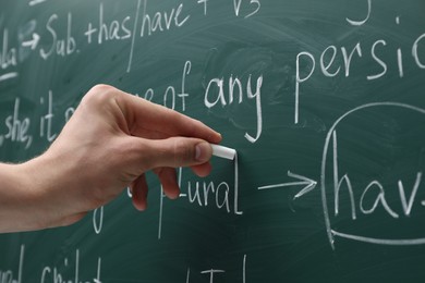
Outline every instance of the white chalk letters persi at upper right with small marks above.
<svg viewBox="0 0 425 283"><path fill-rule="evenodd" d="M366 16L362 21L353 21L347 19L347 22L354 26L367 25L368 20L373 16L371 0L367 0L368 9ZM401 16L396 16L394 28L402 26ZM330 45L324 49L319 56L315 56L309 51L302 51L296 56L296 67L295 67L295 102L294 102L294 123L300 121L300 95L301 85L306 84L307 81L314 75L314 72L318 70L321 75L328 78L343 75L350 77L353 65L364 64L365 61L371 62L371 73L365 74L366 81L375 81L385 76L391 75L389 65L393 65L392 62L397 62L396 70L397 75L402 78L404 77L404 62L410 60L417 70L425 70L425 30L423 34L418 34L417 37L412 38L410 49L403 50L399 47L400 42L389 41L389 39L377 39L371 46L359 41L354 47L335 46ZM394 50L393 53L388 52ZM422 51L421 51L422 50ZM392 57L389 57L392 56ZM409 56L406 56L409 54ZM302 67L307 65L308 67ZM378 71L376 71L378 70Z"/></svg>

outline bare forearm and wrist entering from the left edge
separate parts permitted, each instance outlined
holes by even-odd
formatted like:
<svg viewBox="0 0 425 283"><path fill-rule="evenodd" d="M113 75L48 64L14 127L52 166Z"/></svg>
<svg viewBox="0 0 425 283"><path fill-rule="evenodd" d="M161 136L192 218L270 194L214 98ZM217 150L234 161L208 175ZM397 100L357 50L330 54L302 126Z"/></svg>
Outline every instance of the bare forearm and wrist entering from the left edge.
<svg viewBox="0 0 425 283"><path fill-rule="evenodd" d="M60 163L47 155L22 164L0 163L0 233L70 225L86 214L70 209L85 199L78 186L70 186L71 172Z"/></svg>

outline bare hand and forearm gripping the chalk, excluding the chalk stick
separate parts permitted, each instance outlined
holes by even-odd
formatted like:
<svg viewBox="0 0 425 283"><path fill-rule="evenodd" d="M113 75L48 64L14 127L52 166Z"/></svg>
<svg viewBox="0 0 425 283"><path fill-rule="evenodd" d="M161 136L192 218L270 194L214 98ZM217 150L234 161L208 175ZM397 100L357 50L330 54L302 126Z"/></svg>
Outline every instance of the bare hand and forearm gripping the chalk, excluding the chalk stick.
<svg viewBox="0 0 425 283"><path fill-rule="evenodd" d="M147 207L145 172L178 198L175 168L211 171L211 144L221 135L197 120L107 85L92 88L46 152L0 164L0 232L73 224L130 187Z"/></svg>

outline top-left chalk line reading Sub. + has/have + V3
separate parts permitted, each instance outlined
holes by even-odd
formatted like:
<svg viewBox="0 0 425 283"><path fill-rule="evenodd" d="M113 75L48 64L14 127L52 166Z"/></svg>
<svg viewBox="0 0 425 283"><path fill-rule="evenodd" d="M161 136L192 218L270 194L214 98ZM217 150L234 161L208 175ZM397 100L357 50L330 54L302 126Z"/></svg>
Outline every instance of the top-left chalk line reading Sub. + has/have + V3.
<svg viewBox="0 0 425 283"><path fill-rule="evenodd" d="M29 1L29 5L34 7L46 2L46 0ZM204 5L204 14L207 14L208 0L199 0L198 4ZM82 35L85 37L88 45L97 42L102 45L107 41L131 40L129 63L126 72L132 67L134 46L136 44L136 33L139 38L150 37L157 33L170 32L175 28L181 28L187 25L191 20L189 10L183 3L178 3L175 7L165 11L149 11L148 0L137 0L134 9L134 16L123 15L120 19L106 19L105 10L107 9L104 2L99 3L98 21L88 21L87 27ZM233 0L235 16L243 15L245 19L257 14L260 10L259 0ZM134 20L133 20L134 19ZM133 21L132 21L133 20ZM66 22L57 13L49 16L46 22L45 30L37 33L37 21L32 20L31 30L26 30L25 35L20 35L20 45L31 51L37 50L40 46L38 54L41 59L47 60L52 56L69 57L80 53L76 38L78 35L73 30L73 14L66 14ZM133 22L133 23L132 23ZM62 35L60 28L65 26L65 34ZM41 44L41 45L40 45ZM0 66L5 70L11 65L17 65L17 49L9 47L9 29L3 29L3 44L0 54ZM0 82L14 78L17 73L7 73L0 75Z"/></svg>

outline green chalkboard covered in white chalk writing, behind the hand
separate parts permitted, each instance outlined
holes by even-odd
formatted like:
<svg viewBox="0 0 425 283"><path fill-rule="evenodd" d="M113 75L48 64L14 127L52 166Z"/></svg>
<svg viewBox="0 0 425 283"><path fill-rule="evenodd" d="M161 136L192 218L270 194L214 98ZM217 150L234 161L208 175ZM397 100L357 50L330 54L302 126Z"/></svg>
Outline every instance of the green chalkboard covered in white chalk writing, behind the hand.
<svg viewBox="0 0 425 283"><path fill-rule="evenodd" d="M238 159L0 235L0 282L424 282L422 0L0 1L0 160L40 155L111 84ZM89 121L87 121L89 123ZM66 162L66 160L63 160ZM78 176L75 176L76 179Z"/></svg>

